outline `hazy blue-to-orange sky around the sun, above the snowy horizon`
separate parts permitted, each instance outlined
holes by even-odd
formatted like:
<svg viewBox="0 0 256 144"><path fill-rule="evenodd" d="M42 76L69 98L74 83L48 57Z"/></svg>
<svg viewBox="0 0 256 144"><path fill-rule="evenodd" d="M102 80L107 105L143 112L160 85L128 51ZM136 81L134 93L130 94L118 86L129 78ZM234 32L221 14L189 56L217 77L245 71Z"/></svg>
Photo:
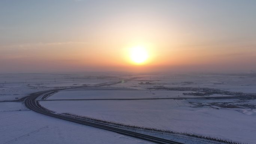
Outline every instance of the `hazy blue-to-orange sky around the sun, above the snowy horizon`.
<svg viewBox="0 0 256 144"><path fill-rule="evenodd" d="M101 70L256 70L256 0L0 0L0 73Z"/></svg>

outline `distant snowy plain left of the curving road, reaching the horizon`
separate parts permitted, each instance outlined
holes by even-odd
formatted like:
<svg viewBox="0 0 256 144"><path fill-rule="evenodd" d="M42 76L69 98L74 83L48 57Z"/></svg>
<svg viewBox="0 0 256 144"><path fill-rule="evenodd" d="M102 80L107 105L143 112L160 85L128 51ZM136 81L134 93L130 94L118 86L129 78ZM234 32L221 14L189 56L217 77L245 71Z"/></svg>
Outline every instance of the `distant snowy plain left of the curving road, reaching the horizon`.
<svg viewBox="0 0 256 144"><path fill-rule="evenodd" d="M106 74L106 73L105 73ZM119 75L104 76L103 73L75 74L0 74L0 101L13 101L33 92L75 86L92 86L122 80Z"/></svg>

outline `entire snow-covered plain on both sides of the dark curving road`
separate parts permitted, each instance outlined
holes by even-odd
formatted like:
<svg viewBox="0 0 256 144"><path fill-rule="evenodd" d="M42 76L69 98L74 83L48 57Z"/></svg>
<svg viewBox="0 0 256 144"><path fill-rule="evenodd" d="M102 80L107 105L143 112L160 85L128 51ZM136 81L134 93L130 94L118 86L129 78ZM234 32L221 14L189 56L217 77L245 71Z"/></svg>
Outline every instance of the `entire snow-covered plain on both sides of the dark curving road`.
<svg viewBox="0 0 256 144"><path fill-rule="evenodd" d="M137 79L128 80L132 77ZM128 81L97 87L98 84L111 84L123 80ZM77 86L84 88L74 88ZM64 144L74 141L102 143L103 139L106 139L106 143L114 144L145 143L113 132L37 114L25 108L22 102L13 101L34 92L58 88L74 89L59 91L48 97L46 101L40 101L44 107L58 113L67 112L129 125L190 132L249 144L256 143L255 99L226 99L224 97L234 95L216 93L189 95L204 93L200 91L203 88L255 95L255 74L76 73L0 74L0 144L32 142L43 144L49 143L48 140L54 140L51 143ZM167 90L168 88L188 88L188 90L170 91ZM204 99L216 96L220 99ZM76 100L136 98L149 99ZM58 101L58 99L66 100ZM98 135L101 137L96 138ZM43 139L45 137L48 139Z"/></svg>

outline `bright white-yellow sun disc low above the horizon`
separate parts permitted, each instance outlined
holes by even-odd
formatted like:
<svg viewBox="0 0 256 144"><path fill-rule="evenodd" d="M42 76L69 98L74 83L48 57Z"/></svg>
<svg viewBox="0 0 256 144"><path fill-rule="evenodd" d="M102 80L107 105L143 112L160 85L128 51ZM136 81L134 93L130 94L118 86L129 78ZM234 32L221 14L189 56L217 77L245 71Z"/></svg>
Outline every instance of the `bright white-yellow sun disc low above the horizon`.
<svg viewBox="0 0 256 144"><path fill-rule="evenodd" d="M148 58L147 50L141 46L131 49L131 60L135 64L143 64Z"/></svg>

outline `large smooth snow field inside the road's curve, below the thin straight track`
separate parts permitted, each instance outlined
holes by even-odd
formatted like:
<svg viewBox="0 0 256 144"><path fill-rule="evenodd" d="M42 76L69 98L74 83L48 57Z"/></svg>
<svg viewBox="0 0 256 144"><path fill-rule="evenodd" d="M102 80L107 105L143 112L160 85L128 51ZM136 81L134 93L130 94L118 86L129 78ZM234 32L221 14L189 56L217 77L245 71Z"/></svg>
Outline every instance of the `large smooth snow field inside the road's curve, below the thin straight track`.
<svg viewBox="0 0 256 144"><path fill-rule="evenodd" d="M193 107L189 101L196 100L41 101L40 104L58 113L74 113L129 125L210 135L250 144L256 141L255 109Z"/></svg>

